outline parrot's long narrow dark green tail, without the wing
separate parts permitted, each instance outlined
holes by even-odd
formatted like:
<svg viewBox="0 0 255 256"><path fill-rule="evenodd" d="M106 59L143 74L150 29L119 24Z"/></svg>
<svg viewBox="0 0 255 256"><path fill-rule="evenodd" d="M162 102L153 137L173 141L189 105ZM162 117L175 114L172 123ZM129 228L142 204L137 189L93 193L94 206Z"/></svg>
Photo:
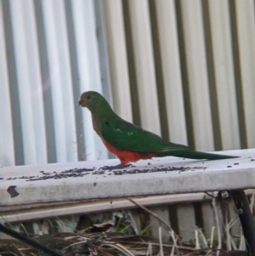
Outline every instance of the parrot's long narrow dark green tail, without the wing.
<svg viewBox="0 0 255 256"><path fill-rule="evenodd" d="M219 160L219 159L240 157L240 156L226 156L226 155L205 153L200 151L172 151L171 156L178 156L178 157L191 158L191 159L207 159L207 160Z"/></svg>

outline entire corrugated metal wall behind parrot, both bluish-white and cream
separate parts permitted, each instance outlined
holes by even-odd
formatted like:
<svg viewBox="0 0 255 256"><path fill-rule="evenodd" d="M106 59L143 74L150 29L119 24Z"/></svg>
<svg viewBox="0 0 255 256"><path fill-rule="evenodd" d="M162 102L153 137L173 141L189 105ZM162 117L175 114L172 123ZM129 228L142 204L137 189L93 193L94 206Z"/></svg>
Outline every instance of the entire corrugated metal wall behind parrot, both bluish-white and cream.
<svg viewBox="0 0 255 256"><path fill-rule="evenodd" d="M110 157L86 90L172 142L252 148L255 1L0 0L0 81L1 166Z"/></svg>

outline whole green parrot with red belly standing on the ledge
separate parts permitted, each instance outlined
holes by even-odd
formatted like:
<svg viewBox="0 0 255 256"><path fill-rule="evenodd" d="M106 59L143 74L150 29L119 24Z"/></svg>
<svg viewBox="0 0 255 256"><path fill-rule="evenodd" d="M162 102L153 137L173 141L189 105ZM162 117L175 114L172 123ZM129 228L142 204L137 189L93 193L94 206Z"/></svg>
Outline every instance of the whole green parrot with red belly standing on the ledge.
<svg viewBox="0 0 255 256"><path fill-rule="evenodd" d="M91 111L94 131L102 139L106 148L120 159L121 165L118 165L118 168L140 159L161 156L207 160L238 157L193 151L186 145L174 144L161 139L160 136L145 131L117 116L107 100L94 91L83 93L79 105L87 107Z"/></svg>

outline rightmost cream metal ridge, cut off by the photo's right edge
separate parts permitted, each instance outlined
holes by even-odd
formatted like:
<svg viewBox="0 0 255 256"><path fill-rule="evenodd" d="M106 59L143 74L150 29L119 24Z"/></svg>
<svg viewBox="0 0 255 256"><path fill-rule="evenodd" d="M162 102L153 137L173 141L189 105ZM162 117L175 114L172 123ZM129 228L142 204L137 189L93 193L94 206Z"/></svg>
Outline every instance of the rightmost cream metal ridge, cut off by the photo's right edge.
<svg viewBox="0 0 255 256"><path fill-rule="evenodd" d="M241 82L249 148L255 147L255 3L235 0Z"/></svg>

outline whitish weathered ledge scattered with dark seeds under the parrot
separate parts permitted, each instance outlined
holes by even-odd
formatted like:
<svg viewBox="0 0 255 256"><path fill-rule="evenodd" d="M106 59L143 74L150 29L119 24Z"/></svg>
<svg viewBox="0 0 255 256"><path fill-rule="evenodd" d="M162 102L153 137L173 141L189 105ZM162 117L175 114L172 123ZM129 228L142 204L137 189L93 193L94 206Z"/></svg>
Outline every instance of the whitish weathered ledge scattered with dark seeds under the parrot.
<svg viewBox="0 0 255 256"><path fill-rule="evenodd" d="M125 168L126 173L135 174L100 169L118 160L3 167L0 206L255 188L255 149L221 153L241 157L217 161L157 158ZM85 169L79 176L81 168ZM74 171L67 174L76 177L64 178L63 172L70 169Z"/></svg>

